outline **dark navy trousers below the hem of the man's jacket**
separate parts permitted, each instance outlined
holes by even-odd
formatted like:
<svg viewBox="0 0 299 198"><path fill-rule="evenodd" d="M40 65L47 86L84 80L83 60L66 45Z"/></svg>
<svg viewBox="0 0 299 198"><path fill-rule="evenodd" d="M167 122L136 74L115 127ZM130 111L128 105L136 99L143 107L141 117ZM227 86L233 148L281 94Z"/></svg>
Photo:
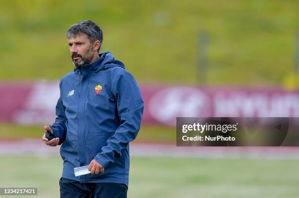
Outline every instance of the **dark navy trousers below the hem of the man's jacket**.
<svg viewBox="0 0 299 198"><path fill-rule="evenodd" d="M128 187L121 183L80 183L61 178L61 198L127 198Z"/></svg>

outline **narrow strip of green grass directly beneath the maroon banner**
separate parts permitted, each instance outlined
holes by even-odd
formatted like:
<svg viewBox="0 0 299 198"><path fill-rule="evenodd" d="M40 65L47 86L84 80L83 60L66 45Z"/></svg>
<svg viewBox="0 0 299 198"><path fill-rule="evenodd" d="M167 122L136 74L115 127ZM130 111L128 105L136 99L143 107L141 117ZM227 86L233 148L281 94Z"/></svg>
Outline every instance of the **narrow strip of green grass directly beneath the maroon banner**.
<svg viewBox="0 0 299 198"><path fill-rule="evenodd" d="M142 126L136 142L174 143L176 129L167 126ZM0 123L0 139L41 138L43 125L26 126Z"/></svg>

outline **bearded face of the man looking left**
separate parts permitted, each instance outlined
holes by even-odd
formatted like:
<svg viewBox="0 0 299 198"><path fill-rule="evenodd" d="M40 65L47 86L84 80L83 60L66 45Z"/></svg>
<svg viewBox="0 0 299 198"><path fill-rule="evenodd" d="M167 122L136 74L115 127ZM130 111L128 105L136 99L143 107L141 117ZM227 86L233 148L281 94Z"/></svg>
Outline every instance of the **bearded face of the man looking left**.
<svg viewBox="0 0 299 198"><path fill-rule="evenodd" d="M93 45L90 44L87 35L79 34L76 37L70 37L68 45L75 66L81 67L91 62L93 58Z"/></svg>

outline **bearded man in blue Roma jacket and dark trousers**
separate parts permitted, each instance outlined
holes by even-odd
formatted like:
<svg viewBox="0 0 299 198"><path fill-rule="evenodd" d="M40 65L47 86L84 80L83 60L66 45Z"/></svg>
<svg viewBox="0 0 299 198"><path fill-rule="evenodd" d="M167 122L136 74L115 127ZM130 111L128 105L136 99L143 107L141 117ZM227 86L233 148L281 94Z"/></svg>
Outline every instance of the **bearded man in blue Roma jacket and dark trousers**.
<svg viewBox="0 0 299 198"><path fill-rule="evenodd" d="M66 33L75 65L60 81L60 98L43 141L61 145L64 160L61 197L125 198L128 190L129 142L140 128L143 100L133 76L109 52L98 54L103 33L93 21L73 24ZM91 174L75 177L88 165Z"/></svg>

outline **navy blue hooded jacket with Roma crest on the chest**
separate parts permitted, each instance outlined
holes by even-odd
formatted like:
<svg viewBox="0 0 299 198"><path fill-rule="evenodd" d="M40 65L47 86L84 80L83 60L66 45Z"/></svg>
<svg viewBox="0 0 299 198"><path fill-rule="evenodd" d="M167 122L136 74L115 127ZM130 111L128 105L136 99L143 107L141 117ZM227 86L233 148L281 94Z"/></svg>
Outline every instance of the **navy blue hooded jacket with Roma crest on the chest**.
<svg viewBox="0 0 299 198"><path fill-rule="evenodd" d="M115 182L128 186L129 142L140 128L144 103L133 76L111 53L61 79L56 120L62 177L80 182ZM104 174L75 177L74 168L94 159Z"/></svg>

